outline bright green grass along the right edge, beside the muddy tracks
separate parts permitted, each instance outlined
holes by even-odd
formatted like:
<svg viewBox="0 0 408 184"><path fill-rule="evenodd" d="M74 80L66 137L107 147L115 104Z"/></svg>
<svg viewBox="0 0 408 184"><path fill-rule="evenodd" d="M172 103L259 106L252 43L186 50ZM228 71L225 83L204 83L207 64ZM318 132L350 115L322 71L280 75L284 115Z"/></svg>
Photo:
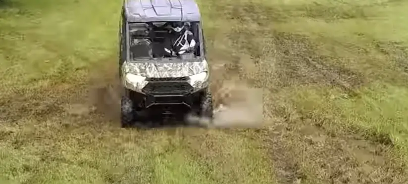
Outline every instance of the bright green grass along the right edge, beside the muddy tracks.
<svg viewBox="0 0 408 184"><path fill-rule="evenodd" d="M357 4L349 1L345 6L348 13L353 12L350 8L353 3ZM403 31L408 28L404 20L408 15L407 6L403 1L367 5L355 7L362 15L352 19L325 22L302 17L292 25L277 26L282 31L301 28L296 33L315 40L320 45L318 53L337 57L330 64L362 74L358 76L360 79L355 77L354 80L361 80L362 84L353 92L313 86L297 90L295 103L300 104L302 113L325 119L327 125L324 126L328 128L346 128L374 141L395 145L398 154L403 156L408 153L405 113L408 110L408 34ZM352 81L344 79L343 83L347 80ZM352 84L353 81L346 85Z"/></svg>

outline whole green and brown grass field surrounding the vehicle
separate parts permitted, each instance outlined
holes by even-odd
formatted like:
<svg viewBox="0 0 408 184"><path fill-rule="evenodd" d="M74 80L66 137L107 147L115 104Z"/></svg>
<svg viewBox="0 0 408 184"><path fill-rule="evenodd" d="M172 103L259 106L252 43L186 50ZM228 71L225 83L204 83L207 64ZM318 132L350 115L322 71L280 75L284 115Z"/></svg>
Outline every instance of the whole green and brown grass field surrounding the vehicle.
<svg viewBox="0 0 408 184"><path fill-rule="evenodd" d="M1 184L408 183L408 1L198 2L269 126L121 129L87 103L121 0L0 0Z"/></svg>

